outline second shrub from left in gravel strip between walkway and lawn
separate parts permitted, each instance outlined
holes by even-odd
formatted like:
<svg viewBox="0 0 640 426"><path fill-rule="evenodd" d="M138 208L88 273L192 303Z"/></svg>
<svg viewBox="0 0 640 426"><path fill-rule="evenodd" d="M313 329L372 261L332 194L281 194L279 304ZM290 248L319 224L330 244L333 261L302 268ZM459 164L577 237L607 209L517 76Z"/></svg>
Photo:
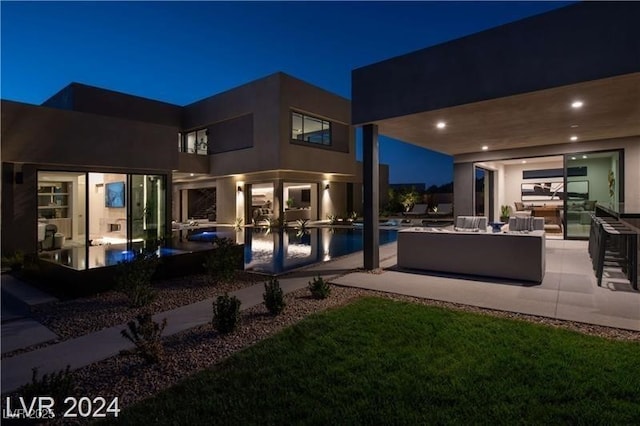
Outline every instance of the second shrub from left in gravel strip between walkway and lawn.
<svg viewBox="0 0 640 426"><path fill-rule="evenodd" d="M122 337L136 346L135 352L147 363L157 364L162 361L164 348L161 334L167 326L167 319L157 323L150 313L136 316L135 320L127 323L127 329L122 330Z"/></svg>

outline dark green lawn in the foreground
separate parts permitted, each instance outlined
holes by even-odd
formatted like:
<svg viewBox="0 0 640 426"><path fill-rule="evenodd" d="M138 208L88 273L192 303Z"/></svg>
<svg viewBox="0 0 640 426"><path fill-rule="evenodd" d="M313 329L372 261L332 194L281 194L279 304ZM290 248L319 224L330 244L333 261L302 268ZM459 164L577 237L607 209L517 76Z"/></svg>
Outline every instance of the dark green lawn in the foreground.
<svg viewBox="0 0 640 426"><path fill-rule="evenodd" d="M640 344L375 298L121 413L128 424L640 424Z"/></svg>

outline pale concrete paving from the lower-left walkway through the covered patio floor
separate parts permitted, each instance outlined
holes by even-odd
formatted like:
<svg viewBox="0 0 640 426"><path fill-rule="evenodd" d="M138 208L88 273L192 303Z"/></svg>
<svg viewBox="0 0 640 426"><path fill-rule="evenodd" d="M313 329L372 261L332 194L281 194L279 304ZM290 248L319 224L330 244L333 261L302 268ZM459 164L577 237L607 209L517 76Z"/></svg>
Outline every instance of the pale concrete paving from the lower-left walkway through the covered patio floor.
<svg viewBox="0 0 640 426"><path fill-rule="evenodd" d="M428 255L428 253L425 253ZM285 293L304 288L311 277L321 275L332 283L372 290L424 297L491 309L522 312L551 318L640 331L640 292L611 271L603 287L597 287L586 251L586 242L547 240L547 271L540 285L462 279L394 270L396 244L380 247L380 274L353 272L362 266L362 253L314 265L280 279ZM262 284L231 293L242 309L262 303ZM154 316L167 318L164 335L211 321L214 299L207 299ZM106 359L133 346L123 339L121 324L76 339L2 360L2 392L18 388L31 379L31 369L51 373L71 365L77 369ZM26 330L23 330L26 332ZM6 343L3 329L3 345ZM10 339L9 339L10 340Z"/></svg>

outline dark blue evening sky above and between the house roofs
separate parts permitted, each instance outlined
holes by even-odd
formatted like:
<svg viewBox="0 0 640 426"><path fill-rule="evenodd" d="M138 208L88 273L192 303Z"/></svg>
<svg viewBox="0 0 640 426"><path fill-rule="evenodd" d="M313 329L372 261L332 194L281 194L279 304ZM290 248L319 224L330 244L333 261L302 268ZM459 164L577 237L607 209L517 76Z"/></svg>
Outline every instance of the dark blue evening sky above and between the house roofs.
<svg viewBox="0 0 640 426"><path fill-rule="evenodd" d="M1 96L39 104L77 81L185 105L283 71L350 98L354 68L566 4L3 1ZM452 179L448 156L380 149L393 183Z"/></svg>

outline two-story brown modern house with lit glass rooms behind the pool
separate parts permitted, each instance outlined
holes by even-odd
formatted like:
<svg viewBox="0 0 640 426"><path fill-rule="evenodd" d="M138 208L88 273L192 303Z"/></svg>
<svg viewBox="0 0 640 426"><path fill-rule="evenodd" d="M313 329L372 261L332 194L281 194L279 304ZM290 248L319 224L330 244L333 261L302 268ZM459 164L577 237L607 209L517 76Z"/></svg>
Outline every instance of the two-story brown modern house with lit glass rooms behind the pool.
<svg viewBox="0 0 640 426"><path fill-rule="evenodd" d="M2 100L3 251L361 211L350 122L349 100L283 73L186 106L77 83L42 105Z"/></svg>

